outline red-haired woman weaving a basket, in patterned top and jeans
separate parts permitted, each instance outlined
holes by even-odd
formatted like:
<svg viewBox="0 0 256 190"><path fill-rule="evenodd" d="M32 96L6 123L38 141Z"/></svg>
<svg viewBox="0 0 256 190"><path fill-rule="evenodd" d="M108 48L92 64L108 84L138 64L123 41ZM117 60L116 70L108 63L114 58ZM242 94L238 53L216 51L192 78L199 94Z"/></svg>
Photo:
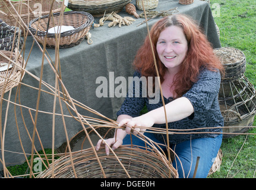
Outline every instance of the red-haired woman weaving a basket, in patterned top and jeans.
<svg viewBox="0 0 256 190"><path fill-rule="evenodd" d="M177 14L159 20L150 30L154 55L160 76L165 102L168 127L170 129L204 128L192 134L170 134L169 144L178 155L173 167L179 177L191 178L197 157L200 162L197 178L206 178L222 144L223 117L220 112L218 94L223 66L214 56L213 49L197 24L185 15ZM150 39L147 36L138 50L134 65L134 77L156 77ZM140 88L140 93L142 91ZM141 95L141 94L140 94ZM127 97L118 111L119 126L116 137L105 142L112 148L130 144L127 134L143 133L138 126L166 128L162 99L150 104L148 97ZM144 105L148 112L140 115ZM132 129L132 130L131 130ZM188 132L188 131L186 131ZM201 132L201 133L200 133ZM208 133L209 132L209 133ZM156 143L165 144L166 135L145 132L144 135ZM100 140L96 145L99 150ZM132 144L145 145L134 135ZM106 153L109 148L106 145ZM192 153L192 155L191 155ZM177 162L176 162L177 161ZM184 172L182 170L184 169Z"/></svg>

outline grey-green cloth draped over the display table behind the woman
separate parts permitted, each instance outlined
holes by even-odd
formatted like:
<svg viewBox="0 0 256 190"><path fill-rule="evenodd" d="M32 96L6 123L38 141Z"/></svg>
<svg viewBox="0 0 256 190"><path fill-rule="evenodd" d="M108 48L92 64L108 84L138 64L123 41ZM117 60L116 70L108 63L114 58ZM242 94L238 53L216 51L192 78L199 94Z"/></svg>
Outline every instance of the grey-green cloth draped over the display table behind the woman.
<svg viewBox="0 0 256 190"><path fill-rule="evenodd" d="M159 0L159 5L155 10L162 11L175 7L178 7L179 13L191 15L192 18L197 20L201 27L203 27L204 32L213 47L220 47L214 18L211 14L211 8L207 2L195 0L191 5L181 5L178 4L178 0ZM142 11L137 12L140 14ZM131 16L127 15L124 9L122 12L119 12L119 15ZM149 21L149 26L152 26L152 24L157 20L159 20L159 18ZM96 21L99 21L99 18L96 18ZM109 94L108 97L97 97L96 88L99 87L100 84L96 84L96 79L98 77L106 77L109 82L110 72L114 74L114 78L119 76L128 78L129 76L132 76L134 72L134 69L132 68L132 61L135 53L143 43L144 37L147 34L146 24L137 26L142 21L143 18L140 18L131 26L122 26L121 28L118 26L109 28L105 25L91 29L91 39L93 40L92 45L89 45L86 40L84 40L78 46L59 50L62 81L67 88L69 95L73 99L91 107L91 109L102 113L108 118L116 118L116 112L124 101L124 97L109 97ZM31 72L31 74L40 77L42 52L39 50L39 47L34 45L29 56L29 50L32 42L32 37L28 37L24 55L24 58L28 60L26 69ZM47 51L54 62L55 50L47 49ZM43 64L43 81L53 87L55 85L55 74L47 61ZM34 79L30 74L26 74L24 76L23 83L31 85L32 87L39 87L39 81ZM10 103L6 125L4 125L4 122L7 111L7 102L4 100L2 103L2 131L4 132L3 136L5 137L4 142L2 143L4 143L5 151L4 158L2 157L2 152L0 158L5 161L7 166L20 164L25 161L18 134L20 134L24 151L27 154L31 153L31 141L27 130L32 137L33 122L29 115L29 108L31 108L31 113L34 117L35 112L33 109L36 109L38 90L28 87L27 85L21 85L20 103L17 100L18 104L26 107L22 107L21 109L20 106L15 107L13 103ZM49 91L45 86L43 86L43 89ZM16 90L14 88L11 94L12 102L15 102L15 93ZM9 93L6 93L4 98L8 99L8 95ZM39 110L46 113L39 113L36 127L44 148L52 147L53 119L52 114L48 114L47 112L53 112L53 99L54 96L48 93L42 92L40 94ZM70 115L67 107L65 107L64 104L62 106L64 106L65 115ZM80 107L77 107L77 109L82 115L97 118L96 115L86 111L85 109L81 109ZM24 121L21 117L21 110ZM58 103L56 106L56 113L61 113ZM15 115L17 116L17 124L15 122ZM82 129L81 124L73 118L66 117L65 125L67 126L68 138L73 137ZM27 130L25 126L27 127ZM61 116L56 116L55 147L59 147L65 141L66 137L62 118ZM35 138L35 145L37 150L41 149L37 137ZM0 170L2 170L1 163Z"/></svg>

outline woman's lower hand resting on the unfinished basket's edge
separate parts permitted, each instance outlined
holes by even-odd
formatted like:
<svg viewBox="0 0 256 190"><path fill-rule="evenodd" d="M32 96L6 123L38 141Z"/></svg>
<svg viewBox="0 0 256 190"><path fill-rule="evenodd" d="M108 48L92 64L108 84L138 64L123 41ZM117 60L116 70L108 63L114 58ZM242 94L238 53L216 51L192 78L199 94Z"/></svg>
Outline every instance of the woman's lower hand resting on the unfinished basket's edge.
<svg viewBox="0 0 256 190"><path fill-rule="evenodd" d="M98 150L100 150L100 146L101 145L105 145L105 151L106 151L106 154L107 155L109 155L109 147L108 147L108 145L109 145L109 147L111 147L111 145L112 145L112 150L115 150L116 148L118 148L120 145L122 145L123 144L123 141L122 141L122 139L121 138L115 138L115 137L113 137L113 138L109 138L109 139L107 139L107 140L99 140L98 141L98 143L97 143L97 145L96 145L96 150L98 151Z"/></svg>

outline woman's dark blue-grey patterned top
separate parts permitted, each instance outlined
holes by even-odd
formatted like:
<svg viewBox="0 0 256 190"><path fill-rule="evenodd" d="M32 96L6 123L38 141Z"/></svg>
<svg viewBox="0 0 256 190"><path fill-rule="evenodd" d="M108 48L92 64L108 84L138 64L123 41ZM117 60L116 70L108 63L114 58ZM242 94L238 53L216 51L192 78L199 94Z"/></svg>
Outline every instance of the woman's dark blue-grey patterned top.
<svg viewBox="0 0 256 190"><path fill-rule="evenodd" d="M135 71L134 77L140 78L140 72ZM200 71L198 81L194 83L187 93L183 95L183 97L187 97L194 106L194 113L187 118L181 119L180 121L168 123L168 127L169 129L204 129L185 131L193 132L192 134L171 134L169 135L170 144L181 143L183 141L190 140L191 138L216 137L220 132L222 132L222 128L212 128L223 126L224 123L218 102L220 81L221 77L219 71L214 72L209 71L208 69L202 69ZM134 83L133 91L135 91ZM172 100L172 97L169 97L169 99L164 97L165 104L171 102ZM116 115L119 116L125 114L132 117L139 116L144 105L146 105L147 110L150 111L156 109L157 107L163 106L163 102L160 98L158 103L149 103L148 97L142 96L142 84L140 84L140 97L131 97L127 95L121 109L116 113ZM153 127L166 128L166 124L155 124ZM155 135L156 138L161 141L163 141L163 138L165 138L166 142L166 135Z"/></svg>

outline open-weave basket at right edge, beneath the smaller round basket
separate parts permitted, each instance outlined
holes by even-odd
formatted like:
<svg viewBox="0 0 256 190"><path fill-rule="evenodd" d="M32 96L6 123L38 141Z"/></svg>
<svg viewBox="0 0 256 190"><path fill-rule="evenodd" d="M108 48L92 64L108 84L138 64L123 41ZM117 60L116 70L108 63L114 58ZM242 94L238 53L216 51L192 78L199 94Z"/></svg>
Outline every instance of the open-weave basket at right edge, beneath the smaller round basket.
<svg viewBox="0 0 256 190"><path fill-rule="evenodd" d="M248 131L252 126L256 113L256 91L246 77L239 80L221 83L219 105L224 118L223 138L234 137L236 134Z"/></svg>

